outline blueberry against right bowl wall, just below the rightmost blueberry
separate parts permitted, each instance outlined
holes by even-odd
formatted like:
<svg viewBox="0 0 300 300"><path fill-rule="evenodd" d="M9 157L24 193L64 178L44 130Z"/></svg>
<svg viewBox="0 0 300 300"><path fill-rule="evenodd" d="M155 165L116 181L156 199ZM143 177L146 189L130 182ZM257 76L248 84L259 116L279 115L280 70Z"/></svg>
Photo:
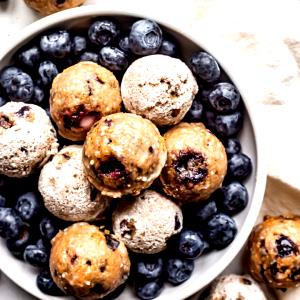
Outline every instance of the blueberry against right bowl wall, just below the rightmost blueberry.
<svg viewBox="0 0 300 300"><path fill-rule="evenodd" d="M230 216L241 212L248 204L248 191L239 182L223 186L218 199L220 210Z"/></svg>

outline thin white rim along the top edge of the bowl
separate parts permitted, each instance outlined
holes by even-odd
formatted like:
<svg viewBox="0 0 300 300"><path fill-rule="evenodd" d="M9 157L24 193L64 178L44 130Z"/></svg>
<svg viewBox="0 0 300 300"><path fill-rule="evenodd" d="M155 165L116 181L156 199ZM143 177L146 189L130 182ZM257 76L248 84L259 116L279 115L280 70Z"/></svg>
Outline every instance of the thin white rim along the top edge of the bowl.
<svg viewBox="0 0 300 300"><path fill-rule="evenodd" d="M206 51L208 49L208 52L212 54L218 61L220 61L219 60L220 55L218 55L217 53L218 51L215 51L215 49L210 49L210 47L206 47L205 42L201 41L201 38L195 34L194 30L179 28L179 26L176 25L176 21L171 23L169 21L163 20L162 17L155 17L151 15L151 13L141 12L139 10L139 7L128 8L126 3L124 2L118 3L118 6L116 6L114 4L111 4L110 1L104 1L101 3L101 5L94 4L94 5L86 5L86 6L67 9L49 15L47 17L43 17L33 22L32 24L27 25L25 28L23 28L18 33L12 35L9 38L9 43L7 43L7 46L3 47L2 51L0 52L0 61L5 56L7 56L10 52L15 51L15 48L18 47L22 42L30 39L30 37L33 35L35 36L38 33L47 30L49 27L54 27L56 24L67 22L76 18L84 18L84 17L96 18L96 17L106 16L106 15L130 16L136 18L147 18L147 19L155 20L158 23L162 24L163 26L184 35L186 38L192 40L203 50ZM222 258L218 261L218 268L214 268L212 272L210 272L209 276L205 278L201 278L202 287L198 287L196 284L194 285L190 284L185 289L177 288L176 295L178 299L185 299L199 292L203 287L208 285L221 272L223 272L223 270L234 260L236 255L239 253L239 251L242 249L243 245L247 241L248 236L250 235L250 232L259 216L259 211L263 203L263 195L265 191L267 172L264 163L266 160L263 158L263 152L262 152L263 149L262 142L261 142L262 138L258 130L259 119L255 117L256 114L254 113L254 108L253 108L253 106L255 106L256 104L251 103L250 105L250 101L247 98L247 95L243 94L243 89L240 88L239 86L239 80L237 78L237 74L235 74L232 71L228 71L228 67L224 62L224 60L222 61L221 59L220 65L224 69L224 71L229 75L229 77L232 79L232 81L240 91L245 108L249 115L251 126L253 128L254 142L256 144L255 152L256 152L256 161L257 161L253 197L251 201L251 206L249 208L249 212L245 218L242 228L239 230L238 235L235 237L233 241L235 247L232 247L231 251L227 251L222 256ZM3 270L3 265L4 264L1 263L0 260L0 269L4 274L6 274L6 276L8 276L20 288L24 289L31 295L38 297L38 295L34 294L29 287L27 287L24 284L22 285L22 282L14 278L15 270L11 270L10 268L5 268ZM59 299L57 297L51 297L51 298ZM166 296L164 299L171 300L172 298Z"/></svg>

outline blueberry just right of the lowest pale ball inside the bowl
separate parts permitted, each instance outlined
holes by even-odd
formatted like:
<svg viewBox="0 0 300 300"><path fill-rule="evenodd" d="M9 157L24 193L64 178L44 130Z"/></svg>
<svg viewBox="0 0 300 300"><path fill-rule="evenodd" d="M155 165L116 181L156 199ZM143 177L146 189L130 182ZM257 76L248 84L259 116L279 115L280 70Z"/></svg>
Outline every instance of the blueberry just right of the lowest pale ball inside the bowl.
<svg viewBox="0 0 300 300"><path fill-rule="evenodd" d="M201 236L193 230L183 230L178 238L178 250L182 257L196 259L204 250Z"/></svg>

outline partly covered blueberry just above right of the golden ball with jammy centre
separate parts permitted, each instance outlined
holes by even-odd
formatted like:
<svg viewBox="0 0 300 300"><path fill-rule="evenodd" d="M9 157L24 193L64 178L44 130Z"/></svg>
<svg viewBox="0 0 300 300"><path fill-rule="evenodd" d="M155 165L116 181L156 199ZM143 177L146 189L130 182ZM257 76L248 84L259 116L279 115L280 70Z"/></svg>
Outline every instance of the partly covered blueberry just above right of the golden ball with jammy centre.
<svg viewBox="0 0 300 300"><path fill-rule="evenodd" d="M230 115L218 115L215 118L215 131L221 137L235 136L243 126L243 115L237 111Z"/></svg>

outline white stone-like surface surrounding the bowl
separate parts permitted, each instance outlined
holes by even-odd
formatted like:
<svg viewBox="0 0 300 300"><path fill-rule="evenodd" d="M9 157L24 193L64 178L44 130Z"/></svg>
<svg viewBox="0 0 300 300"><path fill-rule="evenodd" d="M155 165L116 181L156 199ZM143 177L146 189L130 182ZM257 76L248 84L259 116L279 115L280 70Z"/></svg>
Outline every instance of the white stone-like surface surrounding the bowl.
<svg viewBox="0 0 300 300"><path fill-rule="evenodd" d="M220 48L222 59L238 72L240 84L253 99L261 120L268 154L266 163L273 177L268 180L262 214L282 212L285 206L293 210L300 187L299 126L296 126L300 108L300 2L185 0L182 5L181 1L170 0L111 1L116 6L151 11L154 18L164 16L167 21L186 26L205 39L206 44ZM101 5L101 2L89 0L86 4ZM8 5L1 3L0 52L15 33L38 18L22 0L9 0ZM283 205L276 205L280 203L279 195L287 197ZM300 213L300 207L296 212ZM236 269L238 264L237 259L231 267ZM34 298L2 275L0 299Z"/></svg>

